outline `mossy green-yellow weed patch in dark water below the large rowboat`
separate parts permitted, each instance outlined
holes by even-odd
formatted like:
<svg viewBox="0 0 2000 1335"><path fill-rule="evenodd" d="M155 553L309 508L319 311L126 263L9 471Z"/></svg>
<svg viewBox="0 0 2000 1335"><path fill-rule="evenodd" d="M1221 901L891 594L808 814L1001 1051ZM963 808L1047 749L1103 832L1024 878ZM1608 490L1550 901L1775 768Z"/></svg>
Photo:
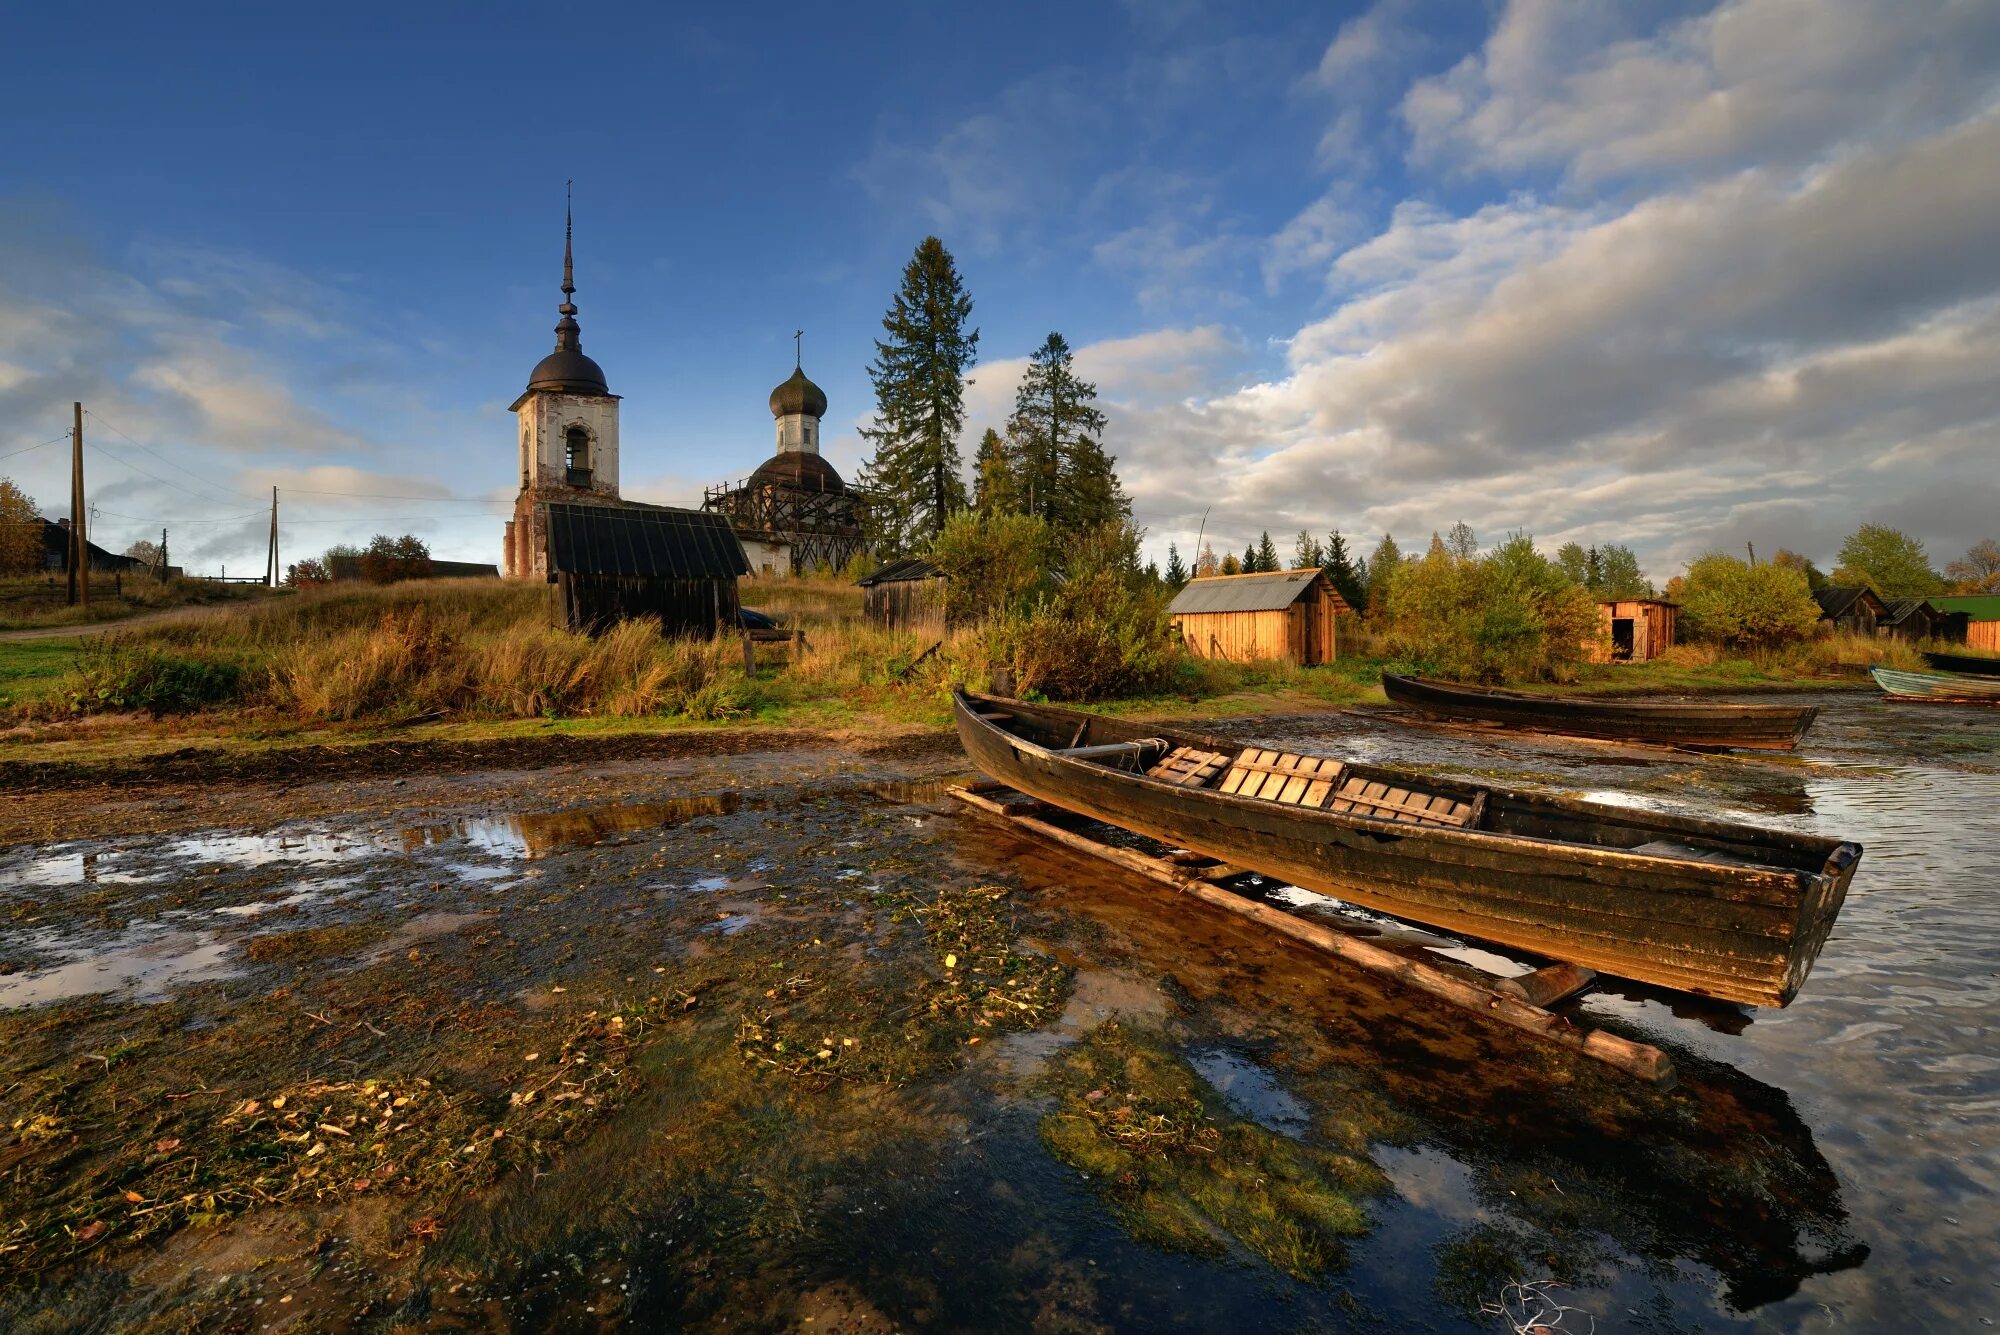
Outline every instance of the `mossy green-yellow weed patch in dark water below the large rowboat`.
<svg viewBox="0 0 2000 1335"><path fill-rule="evenodd" d="M1298 1143L1228 1111L1154 1035L1094 1029L1048 1077L1050 1153L1086 1173L1140 1239L1226 1255L1232 1243L1298 1279L1346 1261L1386 1187L1356 1153Z"/></svg>

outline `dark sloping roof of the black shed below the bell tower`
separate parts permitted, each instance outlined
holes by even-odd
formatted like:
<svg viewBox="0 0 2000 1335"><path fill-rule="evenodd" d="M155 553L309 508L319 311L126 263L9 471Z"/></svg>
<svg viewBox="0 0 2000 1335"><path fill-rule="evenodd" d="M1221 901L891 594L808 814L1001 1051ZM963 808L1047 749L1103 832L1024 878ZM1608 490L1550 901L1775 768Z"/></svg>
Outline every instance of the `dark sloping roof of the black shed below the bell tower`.
<svg viewBox="0 0 2000 1335"><path fill-rule="evenodd" d="M734 580L750 574L730 522L666 506L540 506L548 574Z"/></svg>

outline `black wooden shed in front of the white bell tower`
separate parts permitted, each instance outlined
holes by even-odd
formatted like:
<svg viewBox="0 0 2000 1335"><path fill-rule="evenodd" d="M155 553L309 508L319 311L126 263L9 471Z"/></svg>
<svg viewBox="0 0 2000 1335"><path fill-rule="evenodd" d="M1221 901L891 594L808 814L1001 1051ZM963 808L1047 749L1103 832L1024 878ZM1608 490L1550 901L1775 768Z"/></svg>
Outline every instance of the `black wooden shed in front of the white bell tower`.
<svg viewBox="0 0 2000 1335"><path fill-rule="evenodd" d="M544 502L548 582L570 630L660 618L668 636L736 630L736 580L750 574L728 518L668 506Z"/></svg>

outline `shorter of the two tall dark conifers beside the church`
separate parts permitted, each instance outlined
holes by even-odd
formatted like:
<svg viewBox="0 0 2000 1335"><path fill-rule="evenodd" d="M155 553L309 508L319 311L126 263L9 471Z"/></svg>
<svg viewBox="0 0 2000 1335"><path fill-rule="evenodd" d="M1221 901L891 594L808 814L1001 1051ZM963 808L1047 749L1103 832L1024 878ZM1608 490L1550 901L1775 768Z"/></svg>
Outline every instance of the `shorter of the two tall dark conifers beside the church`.
<svg viewBox="0 0 2000 1335"><path fill-rule="evenodd" d="M1096 406L1098 388L1078 380L1074 358L1062 334L1050 334L1028 358L1006 424L1018 504L1056 532L1132 514L1112 458L1098 444L1106 422Z"/></svg>

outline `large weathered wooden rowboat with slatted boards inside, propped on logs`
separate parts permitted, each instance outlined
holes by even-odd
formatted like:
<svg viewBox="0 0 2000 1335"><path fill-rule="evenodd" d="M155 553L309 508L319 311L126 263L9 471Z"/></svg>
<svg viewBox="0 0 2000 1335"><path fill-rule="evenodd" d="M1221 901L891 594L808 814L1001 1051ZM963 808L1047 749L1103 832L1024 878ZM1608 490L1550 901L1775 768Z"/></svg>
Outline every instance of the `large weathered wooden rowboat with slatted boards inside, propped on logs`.
<svg viewBox="0 0 2000 1335"><path fill-rule="evenodd" d="M1432 779L958 691L966 755L1052 805L1644 983L1786 1005L1858 843Z"/></svg>

